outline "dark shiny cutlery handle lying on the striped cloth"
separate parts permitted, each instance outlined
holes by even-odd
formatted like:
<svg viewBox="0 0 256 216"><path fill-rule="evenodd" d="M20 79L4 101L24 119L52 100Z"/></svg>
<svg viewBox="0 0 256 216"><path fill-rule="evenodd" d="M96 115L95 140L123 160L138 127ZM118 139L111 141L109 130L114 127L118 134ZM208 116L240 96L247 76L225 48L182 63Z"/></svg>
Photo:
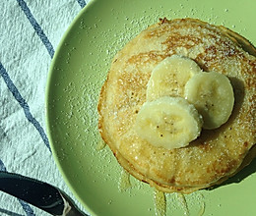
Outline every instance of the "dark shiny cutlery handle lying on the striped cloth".
<svg viewBox="0 0 256 216"><path fill-rule="evenodd" d="M0 190L58 216L82 216L60 189L18 174L0 171Z"/></svg>

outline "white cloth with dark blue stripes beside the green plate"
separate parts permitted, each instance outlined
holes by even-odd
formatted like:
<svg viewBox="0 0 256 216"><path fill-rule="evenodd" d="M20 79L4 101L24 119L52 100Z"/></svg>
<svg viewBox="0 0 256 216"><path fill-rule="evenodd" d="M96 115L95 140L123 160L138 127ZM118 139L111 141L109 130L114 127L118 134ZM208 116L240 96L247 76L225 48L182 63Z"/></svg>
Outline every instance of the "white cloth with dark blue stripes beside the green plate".
<svg viewBox="0 0 256 216"><path fill-rule="evenodd" d="M44 93L54 50L88 2L0 2L0 170L47 182L73 198L45 134ZM0 191L0 215L48 214Z"/></svg>

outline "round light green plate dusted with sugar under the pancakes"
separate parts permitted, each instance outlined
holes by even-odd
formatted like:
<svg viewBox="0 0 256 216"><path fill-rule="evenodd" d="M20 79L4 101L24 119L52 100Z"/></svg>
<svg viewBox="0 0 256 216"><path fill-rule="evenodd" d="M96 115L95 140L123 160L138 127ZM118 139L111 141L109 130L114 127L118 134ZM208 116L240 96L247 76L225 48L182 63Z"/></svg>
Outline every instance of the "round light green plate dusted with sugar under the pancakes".
<svg viewBox="0 0 256 216"><path fill-rule="evenodd" d="M154 189L131 177L100 142L96 104L114 54L159 18L199 18L229 27L256 44L254 0L92 0L65 33L46 89L46 122L56 163L67 185L92 215L155 215ZM255 215L256 160L226 184L166 195L167 215Z"/></svg>

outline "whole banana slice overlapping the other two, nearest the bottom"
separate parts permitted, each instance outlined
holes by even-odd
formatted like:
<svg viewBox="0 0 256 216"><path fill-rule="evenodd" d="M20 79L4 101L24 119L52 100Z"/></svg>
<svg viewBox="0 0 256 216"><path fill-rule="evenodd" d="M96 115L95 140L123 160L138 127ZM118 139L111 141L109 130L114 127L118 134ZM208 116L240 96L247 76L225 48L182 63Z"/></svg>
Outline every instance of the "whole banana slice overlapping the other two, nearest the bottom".
<svg viewBox="0 0 256 216"><path fill-rule="evenodd" d="M202 124L202 116L184 98L163 96L143 104L135 130L151 144L173 149L200 135Z"/></svg>

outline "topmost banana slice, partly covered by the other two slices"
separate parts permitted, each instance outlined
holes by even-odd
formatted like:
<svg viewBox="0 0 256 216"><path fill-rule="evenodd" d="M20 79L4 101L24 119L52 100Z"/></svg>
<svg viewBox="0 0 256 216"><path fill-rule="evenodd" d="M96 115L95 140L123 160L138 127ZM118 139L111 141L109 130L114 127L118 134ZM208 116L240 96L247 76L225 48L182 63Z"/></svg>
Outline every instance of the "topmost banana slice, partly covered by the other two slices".
<svg viewBox="0 0 256 216"><path fill-rule="evenodd" d="M183 96L186 82L201 72L191 59L173 55L167 57L153 70L147 87L147 100L161 96Z"/></svg>

